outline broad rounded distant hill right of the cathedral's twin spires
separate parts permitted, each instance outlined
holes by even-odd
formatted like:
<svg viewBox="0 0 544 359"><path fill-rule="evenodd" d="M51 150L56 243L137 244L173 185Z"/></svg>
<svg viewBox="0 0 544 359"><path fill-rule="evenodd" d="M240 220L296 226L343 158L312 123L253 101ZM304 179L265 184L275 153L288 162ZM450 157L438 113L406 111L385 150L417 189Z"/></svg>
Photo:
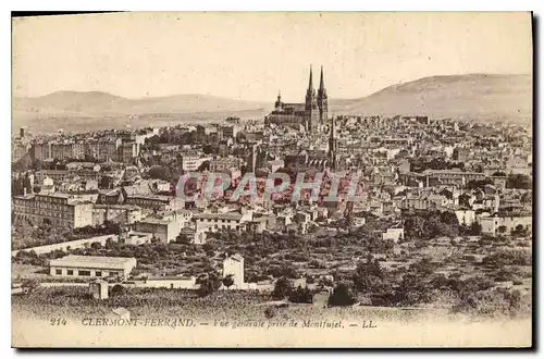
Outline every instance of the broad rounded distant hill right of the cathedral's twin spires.
<svg viewBox="0 0 544 359"><path fill-rule="evenodd" d="M337 114L530 120L532 78L530 75L491 74L423 77L363 98L331 100L330 108Z"/></svg>

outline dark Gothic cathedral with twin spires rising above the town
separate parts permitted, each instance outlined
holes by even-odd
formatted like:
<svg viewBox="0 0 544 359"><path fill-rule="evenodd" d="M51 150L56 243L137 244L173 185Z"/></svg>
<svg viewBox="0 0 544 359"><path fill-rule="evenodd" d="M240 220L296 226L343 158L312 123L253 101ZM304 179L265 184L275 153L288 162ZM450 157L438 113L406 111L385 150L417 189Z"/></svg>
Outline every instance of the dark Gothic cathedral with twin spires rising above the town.
<svg viewBox="0 0 544 359"><path fill-rule="evenodd" d="M310 66L310 79L306 90L305 103L287 103L282 101L281 94L272 111L267 117L265 123L289 126L306 132L317 132L326 125L329 112L329 98L323 78L323 66L321 66L321 78L319 89L316 94L313 88L312 71Z"/></svg>

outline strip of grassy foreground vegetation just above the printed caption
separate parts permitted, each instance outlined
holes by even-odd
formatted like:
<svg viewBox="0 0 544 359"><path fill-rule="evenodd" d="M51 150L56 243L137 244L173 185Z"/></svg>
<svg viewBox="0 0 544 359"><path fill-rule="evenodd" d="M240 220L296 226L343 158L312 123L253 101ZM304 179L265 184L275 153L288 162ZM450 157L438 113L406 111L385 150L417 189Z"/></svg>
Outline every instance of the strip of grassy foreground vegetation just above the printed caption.
<svg viewBox="0 0 544 359"><path fill-rule="evenodd" d="M344 292L347 290L347 292ZM329 305L290 304L277 306L274 290L263 294L248 290L219 290L202 296L197 290L168 288L134 288L119 285L110 289L110 298L92 299L87 287L37 287L26 295L12 296L12 309L20 315L32 318L100 318L111 314L114 308L123 307L132 318L171 317L193 319L263 320L271 318L308 319L381 319L415 320L429 315L442 319L456 315L471 318L528 318L531 314L531 297L519 292L477 290L455 299L456 305L441 308L440 305L404 310L403 308L378 308L345 300L348 288L336 286ZM344 292L344 294L342 293ZM336 299L334 299L336 298ZM342 299L344 298L344 299ZM293 299L293 298L292 298ZM341 299L338 301L338 299ZM436 302L452 300L443 296ZM271 311L271 309L273 309ZM372 318L369 318L371 315Z"/></svg>

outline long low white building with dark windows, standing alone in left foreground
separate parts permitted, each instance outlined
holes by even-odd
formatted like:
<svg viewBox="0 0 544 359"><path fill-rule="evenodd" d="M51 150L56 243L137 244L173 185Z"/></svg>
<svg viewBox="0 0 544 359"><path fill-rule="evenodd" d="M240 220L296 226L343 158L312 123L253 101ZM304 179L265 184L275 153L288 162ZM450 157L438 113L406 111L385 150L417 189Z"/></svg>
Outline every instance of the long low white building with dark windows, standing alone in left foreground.
<svg viewBox="0 0 544 359"><path fill-rule="evenodd" d="M49 273L55 276L127 277L136 267L136 258L66 256L49 262Z"/></svg>

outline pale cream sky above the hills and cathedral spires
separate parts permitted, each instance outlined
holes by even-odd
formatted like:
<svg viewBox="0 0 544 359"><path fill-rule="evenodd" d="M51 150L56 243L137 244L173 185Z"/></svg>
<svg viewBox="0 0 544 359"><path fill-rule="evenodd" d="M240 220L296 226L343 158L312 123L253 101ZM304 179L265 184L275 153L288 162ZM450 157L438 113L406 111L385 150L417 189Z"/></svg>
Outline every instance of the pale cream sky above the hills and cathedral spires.
<svg viewBox="0 0 544 359"><path fill-rule="evenodd" d="M14 18L14 96L206 94L304 100L433 75L532 73L530 13L114 13Z"/></svg>

